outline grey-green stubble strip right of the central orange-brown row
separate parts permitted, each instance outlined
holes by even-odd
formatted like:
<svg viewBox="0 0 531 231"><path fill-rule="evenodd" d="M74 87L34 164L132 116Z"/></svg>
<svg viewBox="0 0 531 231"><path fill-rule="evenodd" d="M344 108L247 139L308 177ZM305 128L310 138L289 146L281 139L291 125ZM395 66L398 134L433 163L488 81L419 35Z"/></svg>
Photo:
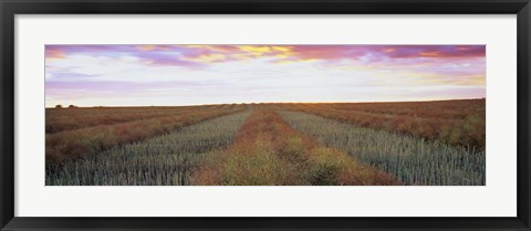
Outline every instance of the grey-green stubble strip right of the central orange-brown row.
<svg viewBox="0 0 531 231"><path fill-rule="evenodd" d="M346 151L405 185L486 183L486 154L481 148L376 130L301 112L281 112L280 115L294 129L313 136L327 147Z"/></svg>

